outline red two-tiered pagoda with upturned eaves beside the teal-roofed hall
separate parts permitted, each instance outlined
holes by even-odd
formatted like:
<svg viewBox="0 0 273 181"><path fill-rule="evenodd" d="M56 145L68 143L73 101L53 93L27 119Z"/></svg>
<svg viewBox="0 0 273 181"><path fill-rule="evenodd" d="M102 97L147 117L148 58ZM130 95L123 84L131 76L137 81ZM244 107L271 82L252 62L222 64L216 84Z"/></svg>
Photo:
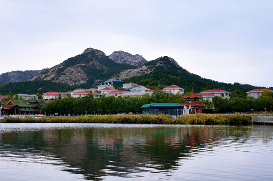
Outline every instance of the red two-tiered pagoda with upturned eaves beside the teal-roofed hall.
<svg viewBox="0 0 273 181"><path fill-rule="evenodd" d="M180 103L181 106L184 106L183 114L202 113L202 108L205 106L204 103L199 103L202 95L195 94L192 90L190 94L183 96L183 98L186 99L186 103Z"/></svg>

